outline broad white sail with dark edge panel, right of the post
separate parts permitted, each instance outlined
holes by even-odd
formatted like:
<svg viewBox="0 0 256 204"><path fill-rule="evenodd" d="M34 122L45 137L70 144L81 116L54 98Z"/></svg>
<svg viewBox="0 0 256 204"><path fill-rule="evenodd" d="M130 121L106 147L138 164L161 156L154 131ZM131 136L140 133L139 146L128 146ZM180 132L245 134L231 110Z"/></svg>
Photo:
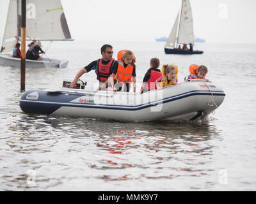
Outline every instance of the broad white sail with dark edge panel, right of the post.
<svg viewBox="0 0 256 204"><path fill-rule="evenodd" d="M26 32L31 39L70 39L61 1L27 0Z"/></svg>

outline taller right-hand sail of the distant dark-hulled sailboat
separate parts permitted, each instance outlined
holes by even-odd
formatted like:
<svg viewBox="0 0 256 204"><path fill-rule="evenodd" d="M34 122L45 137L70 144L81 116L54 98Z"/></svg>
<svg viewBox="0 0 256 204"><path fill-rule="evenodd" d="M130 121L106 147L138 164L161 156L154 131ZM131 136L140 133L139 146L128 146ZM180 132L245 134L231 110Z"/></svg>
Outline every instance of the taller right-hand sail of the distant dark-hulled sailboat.
<svg viewBox="0 0 256 204"><path fill-rule="evenodd" d="M193 17L189 0L182 0L178 43L194 44Z"/></svg>

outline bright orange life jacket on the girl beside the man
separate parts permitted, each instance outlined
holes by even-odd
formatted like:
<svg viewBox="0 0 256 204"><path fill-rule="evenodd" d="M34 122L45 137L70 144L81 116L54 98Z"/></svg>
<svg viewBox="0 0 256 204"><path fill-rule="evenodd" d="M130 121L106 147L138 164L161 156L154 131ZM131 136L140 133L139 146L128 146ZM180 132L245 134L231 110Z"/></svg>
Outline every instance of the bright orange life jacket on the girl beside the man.
<svg viewBox="0 0 256 204"><path fill-rule="evenodd" d="M126 50L121 50L117 54L118 67L114 78L118 82L127 84L132 82L132 71L134 67L131 64L128 64L126 67L124 67L124 61L122 60L122 57L125 51ZM133 57L133 59L136 61L135 57Z"/></svg>

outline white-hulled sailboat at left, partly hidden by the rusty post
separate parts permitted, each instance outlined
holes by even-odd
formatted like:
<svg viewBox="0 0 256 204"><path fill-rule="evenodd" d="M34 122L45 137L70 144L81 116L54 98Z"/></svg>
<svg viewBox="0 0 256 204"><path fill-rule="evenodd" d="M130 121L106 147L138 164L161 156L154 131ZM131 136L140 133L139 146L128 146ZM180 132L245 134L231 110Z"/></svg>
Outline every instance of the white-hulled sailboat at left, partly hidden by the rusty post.
<svg viewBox="0 0 256 204"><path fill-rule="evenodd" d="M26 1L26 40L72 40L60 0ZM6 10L5 10L6 9ZM20 59L8 54L20 40L21 0L1 0L0 66L20 67ZM7 11L7 12L6 12ZM4 28L4 29L3 29ZM46 56L46 55L45 55ZM26 59L28 68L66 68L68 61L42 57L42 61Z"/></svg>

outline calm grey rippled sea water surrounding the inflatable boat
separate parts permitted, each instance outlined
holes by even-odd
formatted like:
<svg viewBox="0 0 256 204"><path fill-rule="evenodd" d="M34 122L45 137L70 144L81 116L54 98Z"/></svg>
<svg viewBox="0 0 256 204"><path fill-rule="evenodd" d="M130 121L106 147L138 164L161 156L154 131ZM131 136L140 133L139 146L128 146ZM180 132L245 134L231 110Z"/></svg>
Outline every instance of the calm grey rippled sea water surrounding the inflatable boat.
<svg viewBox="0 0 256 204"><path fill-rule="evenodd" d="M27 115L19 107L20 70L0 67L1 191L255 191L256 45L198 43L203 55L165 55L157 42L56 42L47 57L68 68L26 69L26 90L60 87L111 43L115 55L131 49L141 83L151 57L204 64L207 78L226 93L206 121L122 123L113 120ZM95 73L82 77L94 89ZM138 87L138 90L140 87Z"/></svg>

